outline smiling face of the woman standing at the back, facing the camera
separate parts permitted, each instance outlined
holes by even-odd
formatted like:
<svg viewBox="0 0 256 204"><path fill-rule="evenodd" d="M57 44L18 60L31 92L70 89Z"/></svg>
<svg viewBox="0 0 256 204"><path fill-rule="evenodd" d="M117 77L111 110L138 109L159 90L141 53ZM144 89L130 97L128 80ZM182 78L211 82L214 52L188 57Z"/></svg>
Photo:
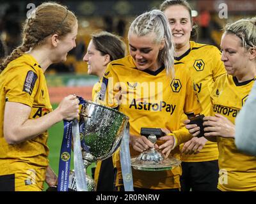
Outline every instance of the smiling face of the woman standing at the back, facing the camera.
<svg viewBox="0 0 256 204"><path fill-rule="evenodd" d="M192 31L191 17L188 9L181 5L173 5L166 8L163 12L168 18L175 47L177 49L188 49Z"/></svg>

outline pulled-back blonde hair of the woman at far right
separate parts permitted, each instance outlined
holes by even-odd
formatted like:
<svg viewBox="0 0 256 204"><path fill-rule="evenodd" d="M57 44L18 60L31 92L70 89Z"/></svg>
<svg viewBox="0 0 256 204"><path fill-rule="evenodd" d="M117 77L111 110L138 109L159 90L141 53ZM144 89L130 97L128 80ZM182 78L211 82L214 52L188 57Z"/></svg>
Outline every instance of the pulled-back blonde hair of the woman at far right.
<svg viewBox="0 0 256 204"><path fill-rule="evenodd" d="M256 48L256 17L237 20L225 26L225 33L235 34L245 50Z"/></svg>

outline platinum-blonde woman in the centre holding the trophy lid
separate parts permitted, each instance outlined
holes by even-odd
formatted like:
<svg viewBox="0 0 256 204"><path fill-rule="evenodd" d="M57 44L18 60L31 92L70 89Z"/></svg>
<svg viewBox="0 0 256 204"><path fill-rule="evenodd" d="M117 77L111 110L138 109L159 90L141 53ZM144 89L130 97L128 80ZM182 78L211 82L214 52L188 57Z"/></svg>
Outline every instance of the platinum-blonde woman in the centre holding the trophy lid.
<svg viewBox="0 0 256 204"><path fill-rule="evenodd" d="M179 144L191 138L186 128L180 129L179 119L183 112L200 113L201 107L188 71L173 68L172 34L163 12L152 10L137 17L128 40L130 55L108 64L99 98L129 117L131 156L154 146L140 135L141 128L162 128L167 135L156 147L166 157L172 150L179 159ZM116 186L122 190L120 162L116 168ZM134 190L179 191L180 174L180 166L168 171L133 170Z"/></svg>

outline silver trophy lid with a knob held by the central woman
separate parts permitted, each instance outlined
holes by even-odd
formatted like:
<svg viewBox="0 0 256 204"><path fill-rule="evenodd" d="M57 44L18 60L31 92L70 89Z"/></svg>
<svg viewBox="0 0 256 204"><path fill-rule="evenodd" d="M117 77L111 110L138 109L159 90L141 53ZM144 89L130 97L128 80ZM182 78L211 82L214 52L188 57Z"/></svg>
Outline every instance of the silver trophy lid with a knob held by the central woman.
<svg viewBox="0 0 256 204"><path fill-rule="evenodd" d="M156 135L150 134L148 140L156 143ZM174 157L164 159L164 155L154 147L142 152L139 156L131 158L131 165L135 170L143 171L164 171L172 170L180 165L179 159Z"/></svg>

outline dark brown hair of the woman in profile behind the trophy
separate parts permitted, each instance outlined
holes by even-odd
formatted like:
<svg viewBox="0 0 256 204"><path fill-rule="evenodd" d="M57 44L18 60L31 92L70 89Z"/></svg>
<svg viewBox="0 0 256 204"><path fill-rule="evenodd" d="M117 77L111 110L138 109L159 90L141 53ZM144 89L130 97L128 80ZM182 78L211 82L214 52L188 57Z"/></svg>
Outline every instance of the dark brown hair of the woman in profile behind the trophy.
<svg viewBox="0 0 256 204"><path fill-rule="evenodd" d="M99 50L101 55L108 54L110 61L120 59L125 56L126 45L119 36L102 31L97 34L92 34L93 45L96 50Z"/></svg>

